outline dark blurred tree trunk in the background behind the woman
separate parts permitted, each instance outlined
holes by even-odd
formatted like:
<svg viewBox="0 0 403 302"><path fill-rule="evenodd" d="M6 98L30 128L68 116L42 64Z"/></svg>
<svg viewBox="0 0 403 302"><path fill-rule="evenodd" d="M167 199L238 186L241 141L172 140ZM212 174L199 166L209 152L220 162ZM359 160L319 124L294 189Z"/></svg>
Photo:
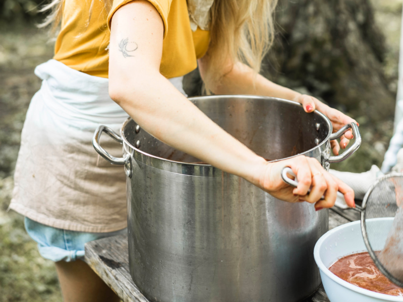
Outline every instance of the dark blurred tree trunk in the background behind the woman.
<svg viewBox="0 0 403 302"><path fill-rule="evenodd" d="M382 61L385 40L370 0L279 0L276 40L262 74L369 122L393 116ZM184 81L200 94L198 71Z"/></svg>

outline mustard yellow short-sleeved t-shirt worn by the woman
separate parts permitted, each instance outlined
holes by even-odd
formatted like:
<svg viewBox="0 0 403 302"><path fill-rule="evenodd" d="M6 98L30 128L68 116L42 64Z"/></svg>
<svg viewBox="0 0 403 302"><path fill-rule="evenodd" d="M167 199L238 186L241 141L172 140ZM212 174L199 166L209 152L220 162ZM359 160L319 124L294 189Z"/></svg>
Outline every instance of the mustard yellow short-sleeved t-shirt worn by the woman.
<svg viewBox="0 0 403 302"><path fill-rule="evenodd" d="M103 0L94 0L90 14L91 0L65 0L53 58L78 71L108 78L108 25L113 13L130 1L114 0L107 14ZM186 0L149 2L164 23L161 74L169 79L192 71L207 51L209 32L191 30Z"/></svg>

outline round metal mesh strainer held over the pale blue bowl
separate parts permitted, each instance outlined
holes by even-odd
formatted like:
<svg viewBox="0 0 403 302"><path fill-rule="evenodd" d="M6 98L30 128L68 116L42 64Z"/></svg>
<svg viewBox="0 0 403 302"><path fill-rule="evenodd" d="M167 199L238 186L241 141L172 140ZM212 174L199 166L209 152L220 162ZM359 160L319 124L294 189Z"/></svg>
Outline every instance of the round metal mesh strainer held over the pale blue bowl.
<svg viewBox="0 0 403 302"><path fill-rule="evenodd" d="M283 169L284 182L298 185L289 167ZM337 192L341 194L340 192ZM335 204L345 209L346 204ZM355 210L361 212L361 231L365 245L379 270L393 283L403 287L403 174L391 173L380 177L365 194L362 206ZM390 217L390 219L384 219ZM381 218L382 224L369 223ZM389 230L385 238L385 229Z"/></svg>

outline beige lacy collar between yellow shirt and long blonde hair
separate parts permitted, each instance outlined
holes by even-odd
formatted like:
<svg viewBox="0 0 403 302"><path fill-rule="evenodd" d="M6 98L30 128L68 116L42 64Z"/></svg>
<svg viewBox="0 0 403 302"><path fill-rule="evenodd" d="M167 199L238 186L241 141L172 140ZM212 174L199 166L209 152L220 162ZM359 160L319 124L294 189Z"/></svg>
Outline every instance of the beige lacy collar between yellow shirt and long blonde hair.
<svg viewBox="0 0 403 302"><path fill-rule="evenodd" d="M188 0L190 27L196 31L199 26L202 30L209 30L210 8L214 0Z"/></svg>

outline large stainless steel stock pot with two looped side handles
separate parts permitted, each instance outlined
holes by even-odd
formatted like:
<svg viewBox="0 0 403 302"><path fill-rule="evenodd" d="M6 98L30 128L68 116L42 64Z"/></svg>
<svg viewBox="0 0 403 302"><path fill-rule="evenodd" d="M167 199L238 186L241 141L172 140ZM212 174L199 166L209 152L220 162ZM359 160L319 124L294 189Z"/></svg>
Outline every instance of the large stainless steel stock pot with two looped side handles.
<svg viewBox="0 0 403 302"><path fill-rule="evenodd" d="M299 154L325 169L355 152L355 124L332 134L320 112L258 96L190 99L228 133L268 160ZM330 140L353 129L355 141L330 156ZM100 145L106 132L123 142L123 158ZM320 285L313 257L328 211L286 203L154 138L132 119L120 135L100 126L97 152L127 174L130 273L143 294L164 302L298 301ZM209 146L206 145L206 148Z"/></svg>

